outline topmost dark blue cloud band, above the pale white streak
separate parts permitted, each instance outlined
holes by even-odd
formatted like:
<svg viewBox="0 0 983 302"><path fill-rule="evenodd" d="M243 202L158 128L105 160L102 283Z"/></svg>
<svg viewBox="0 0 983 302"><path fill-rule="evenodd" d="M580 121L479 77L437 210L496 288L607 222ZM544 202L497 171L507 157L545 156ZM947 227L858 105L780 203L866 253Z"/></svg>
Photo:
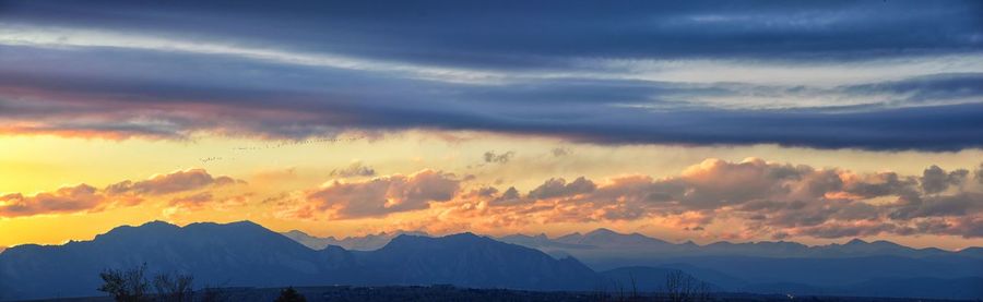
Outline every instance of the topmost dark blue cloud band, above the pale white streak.
<svg viewBox="0 0 983 302"><path fill-rule="evenodd" d="M979 1L4 1L13 23L495 69L569 58L851 60L979 52Z"/></svg>

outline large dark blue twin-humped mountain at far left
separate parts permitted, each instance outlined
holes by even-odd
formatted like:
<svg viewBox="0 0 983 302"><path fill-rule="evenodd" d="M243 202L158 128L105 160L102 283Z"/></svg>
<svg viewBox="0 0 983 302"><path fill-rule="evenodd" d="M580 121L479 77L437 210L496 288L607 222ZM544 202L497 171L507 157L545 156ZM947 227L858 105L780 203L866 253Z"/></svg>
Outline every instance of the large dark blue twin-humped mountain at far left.
<svg viewBox="0 0 983 302"><path fill-rule="evenodd" d="M151 271L194 274L199 285L316 283L329 258L252 222L166 222L119 227L92 241L20 245L0 254L0 298L96 295L98 273L143 263Z"/></svg>

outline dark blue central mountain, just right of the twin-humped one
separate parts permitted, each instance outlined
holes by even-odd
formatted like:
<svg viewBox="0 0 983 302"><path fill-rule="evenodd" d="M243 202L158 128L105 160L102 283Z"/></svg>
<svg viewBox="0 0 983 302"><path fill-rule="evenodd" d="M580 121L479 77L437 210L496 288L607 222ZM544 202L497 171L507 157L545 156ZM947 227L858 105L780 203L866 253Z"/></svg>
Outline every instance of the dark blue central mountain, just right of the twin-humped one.
<svg viewBox="0 0 983 302"><path fill-rule="evenodd" d="M448 283L462 287L583 290L596 274L573 258L472 233L443 238L399 235L372 252L356 253L372 283Z"/></svg>

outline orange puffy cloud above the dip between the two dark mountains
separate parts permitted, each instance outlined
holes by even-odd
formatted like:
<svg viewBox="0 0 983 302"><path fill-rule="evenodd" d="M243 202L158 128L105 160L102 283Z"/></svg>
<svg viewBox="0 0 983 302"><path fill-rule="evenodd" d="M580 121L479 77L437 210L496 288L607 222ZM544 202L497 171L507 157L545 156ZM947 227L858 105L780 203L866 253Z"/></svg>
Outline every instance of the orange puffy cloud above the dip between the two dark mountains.
<svg viewBox="0 0 983 302"><path fill-rule="evenodd" d="M453 174L434 170L359 182L335 180L308 192L305 210L325 212L333 219L384 216L428 208L430 202L450 201L459 186L460 180Z"/></svg>

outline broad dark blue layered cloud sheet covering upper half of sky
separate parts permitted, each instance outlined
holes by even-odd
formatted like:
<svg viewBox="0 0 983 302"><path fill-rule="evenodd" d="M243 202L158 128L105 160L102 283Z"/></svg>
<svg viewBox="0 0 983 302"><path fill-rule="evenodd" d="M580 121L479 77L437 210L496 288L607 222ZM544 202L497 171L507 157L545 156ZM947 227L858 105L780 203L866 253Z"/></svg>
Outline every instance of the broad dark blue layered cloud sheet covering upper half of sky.
<svg viewBox="0 0 983 302"><path fill-rule="evenodd" d="M4 5L0 135L983 147L974 1Z"/></svg>

